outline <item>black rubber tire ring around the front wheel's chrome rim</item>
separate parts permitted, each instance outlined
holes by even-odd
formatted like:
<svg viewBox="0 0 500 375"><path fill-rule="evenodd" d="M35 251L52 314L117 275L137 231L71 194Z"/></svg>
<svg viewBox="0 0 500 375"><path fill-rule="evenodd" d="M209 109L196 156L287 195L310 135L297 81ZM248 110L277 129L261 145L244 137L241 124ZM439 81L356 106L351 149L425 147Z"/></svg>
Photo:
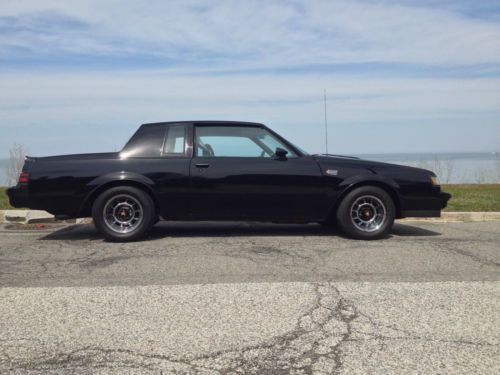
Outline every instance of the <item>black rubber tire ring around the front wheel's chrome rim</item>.
<svg viewBox="0 0 500 375"><path fill-rule="evenodd" d="M386 217L384 224L374 232L363 232L358 229L351 218L351 206L355 200L363 195L373 195L380 199L385 206ZM386 237L394 224L396 209L391 196L377 186L361 186L349 192L337 210L337 222L342 231L351 238L359 240L374 240Z"/></svg>

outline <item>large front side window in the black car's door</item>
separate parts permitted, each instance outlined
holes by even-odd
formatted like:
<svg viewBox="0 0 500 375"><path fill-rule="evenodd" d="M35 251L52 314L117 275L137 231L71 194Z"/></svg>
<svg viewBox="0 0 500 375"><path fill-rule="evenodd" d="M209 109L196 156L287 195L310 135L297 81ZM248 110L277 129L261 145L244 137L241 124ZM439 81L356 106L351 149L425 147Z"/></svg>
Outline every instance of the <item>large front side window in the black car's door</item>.
<svg viewBox="0 0 500 375"><path fill-rule="evenodd" d="M274 156L276 147L290 157L297 155L266 129L245 126L198 126L195 129L196 156L262 157Z"/></svg>

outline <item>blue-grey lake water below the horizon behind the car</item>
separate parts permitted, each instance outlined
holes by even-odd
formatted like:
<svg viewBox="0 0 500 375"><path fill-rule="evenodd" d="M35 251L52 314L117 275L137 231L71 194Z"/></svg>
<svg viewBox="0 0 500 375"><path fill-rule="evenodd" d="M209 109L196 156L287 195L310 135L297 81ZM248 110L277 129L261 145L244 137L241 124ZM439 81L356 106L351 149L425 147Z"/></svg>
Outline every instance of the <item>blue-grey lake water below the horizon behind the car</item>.
<svg viewBox="0 0 500 375"><path fill-rule="evenodd" d="M364 154L363 159L409 165L434 171L442 183L499 183L500 153ZM5 184L7 159L0 159L0 184Z"/></svg>

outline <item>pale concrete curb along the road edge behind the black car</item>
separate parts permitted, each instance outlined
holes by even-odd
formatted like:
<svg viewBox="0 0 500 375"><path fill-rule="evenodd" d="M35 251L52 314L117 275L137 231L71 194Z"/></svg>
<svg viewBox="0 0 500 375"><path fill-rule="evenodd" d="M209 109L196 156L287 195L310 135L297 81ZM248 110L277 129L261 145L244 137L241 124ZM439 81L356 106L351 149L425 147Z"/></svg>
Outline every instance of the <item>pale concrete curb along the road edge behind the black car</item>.
<svg viewBox="0 0 500 375"><path fill-rule="evenodd" d="M442 212L441 217L406 218L400 222L423 221L436 223L473 222L473 221L500 221L500 212ZM35 224L54 223L57 220L53 215L38 210L0 210L0 224ZM90 218L64 220L66 223L88 224Z"/></svg>

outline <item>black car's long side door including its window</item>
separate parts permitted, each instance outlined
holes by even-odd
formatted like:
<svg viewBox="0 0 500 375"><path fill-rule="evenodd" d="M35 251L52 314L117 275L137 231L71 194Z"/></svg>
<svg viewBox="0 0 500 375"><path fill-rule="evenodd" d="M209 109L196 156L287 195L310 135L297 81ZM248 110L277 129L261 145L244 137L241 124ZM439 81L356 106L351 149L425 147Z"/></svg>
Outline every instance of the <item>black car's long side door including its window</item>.
<svg viewBox="0 0 500 375"><path fill-rule="evenodd" d="M264 127L194 129L191 208L196 219L302 222L325 210L321 170ZM274 145L288 152L276 157Z"/></svg>

